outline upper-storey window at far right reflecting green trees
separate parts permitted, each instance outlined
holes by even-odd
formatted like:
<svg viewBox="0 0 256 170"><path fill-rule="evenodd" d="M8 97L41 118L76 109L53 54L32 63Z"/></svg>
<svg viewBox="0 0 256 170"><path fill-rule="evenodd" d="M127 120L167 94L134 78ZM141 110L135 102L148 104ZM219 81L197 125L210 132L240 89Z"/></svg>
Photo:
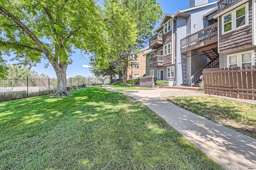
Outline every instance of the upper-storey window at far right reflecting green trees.
<svg viewBox="0 0 256 170"><path fill-rule="evenodd" d="M234 31L237 28L247 25L248 20L248 3L244 6L236 8L229 14L225 14L222 17L222 32L226 33Z"/></svg>

